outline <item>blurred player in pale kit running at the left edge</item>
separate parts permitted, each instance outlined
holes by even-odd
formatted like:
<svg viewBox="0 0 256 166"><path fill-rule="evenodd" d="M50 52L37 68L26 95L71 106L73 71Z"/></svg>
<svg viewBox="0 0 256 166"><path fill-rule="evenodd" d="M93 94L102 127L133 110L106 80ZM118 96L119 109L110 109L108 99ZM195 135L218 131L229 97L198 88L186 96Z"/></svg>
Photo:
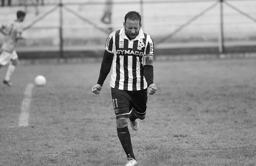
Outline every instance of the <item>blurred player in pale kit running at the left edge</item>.
<svg viewBox="0 0 256 166"><path fill-rule="evenodd" d="M22 39L23 26L22 22L25 19L26 13L23 11L17 11L17 19L14 22L2 24L0 26L0 32L5 35L4 42L2 44L2 53L0 54L0 68L9 63L4 84L12 86L10 81L11 75L18 65L18 55L14 50L19 39Z"/></svg>

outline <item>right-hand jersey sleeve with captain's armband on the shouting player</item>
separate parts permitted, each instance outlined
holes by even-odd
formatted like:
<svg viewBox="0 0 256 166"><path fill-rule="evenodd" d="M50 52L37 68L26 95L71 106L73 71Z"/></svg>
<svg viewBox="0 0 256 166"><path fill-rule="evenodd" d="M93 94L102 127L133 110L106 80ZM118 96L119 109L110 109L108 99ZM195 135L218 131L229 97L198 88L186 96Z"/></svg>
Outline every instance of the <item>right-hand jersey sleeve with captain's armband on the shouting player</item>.
<svg viewBox="0 0 256 166"><path fill-rule="evenodd" d="M143 65L153 65L154 57L154 42L152 38L148 35L146 40L146 51L143 56Z"/></svg>

